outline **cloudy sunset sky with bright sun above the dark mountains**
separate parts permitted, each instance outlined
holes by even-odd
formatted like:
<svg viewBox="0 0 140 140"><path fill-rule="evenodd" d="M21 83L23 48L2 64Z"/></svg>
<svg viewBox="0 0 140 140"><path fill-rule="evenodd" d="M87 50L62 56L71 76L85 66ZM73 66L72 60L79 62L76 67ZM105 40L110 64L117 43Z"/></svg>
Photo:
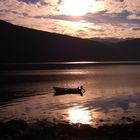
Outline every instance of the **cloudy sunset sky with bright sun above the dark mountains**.
<svg viewBox="0 0 140 140"><path fill-rule="evenodd" d="M0 0L0 19L80 38L140 38L140 0Z"/></svg>

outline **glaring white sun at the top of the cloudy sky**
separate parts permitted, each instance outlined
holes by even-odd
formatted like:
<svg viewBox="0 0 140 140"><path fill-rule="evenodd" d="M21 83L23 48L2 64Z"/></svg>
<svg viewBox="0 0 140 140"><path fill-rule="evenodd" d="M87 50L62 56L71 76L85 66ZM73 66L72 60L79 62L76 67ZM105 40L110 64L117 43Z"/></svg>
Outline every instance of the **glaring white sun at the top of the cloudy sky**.
<svg viewBox="0 0 140 140"><path fill-rule="evenodd" d="M82 16L90 11L94 0L64 0L60 11L65 15Z"/></svg>

